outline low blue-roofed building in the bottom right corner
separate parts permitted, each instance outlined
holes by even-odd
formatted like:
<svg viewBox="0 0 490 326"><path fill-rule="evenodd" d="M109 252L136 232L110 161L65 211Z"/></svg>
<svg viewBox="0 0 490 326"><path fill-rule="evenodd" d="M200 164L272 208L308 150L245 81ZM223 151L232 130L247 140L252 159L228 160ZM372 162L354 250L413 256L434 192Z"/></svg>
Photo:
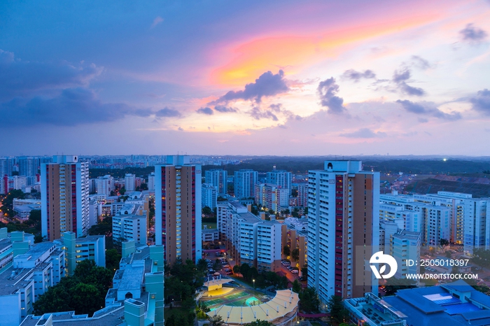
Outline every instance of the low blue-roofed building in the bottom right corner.
<svg viewBox="0 0 490 326"><path fill-rule="evenodd" d="M382 299L366 293L345 299L344 306L356 325L490 325L490 297L462 280L398 290Z"/></svg>

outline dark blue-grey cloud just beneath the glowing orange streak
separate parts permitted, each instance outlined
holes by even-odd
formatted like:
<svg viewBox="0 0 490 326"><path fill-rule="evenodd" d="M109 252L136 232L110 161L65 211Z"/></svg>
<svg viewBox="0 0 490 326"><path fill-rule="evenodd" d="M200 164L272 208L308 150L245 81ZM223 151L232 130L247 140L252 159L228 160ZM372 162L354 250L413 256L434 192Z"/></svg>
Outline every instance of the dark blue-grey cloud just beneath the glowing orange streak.
<svg viewBox="0 0 490 326"><path fill-rule="evenodd" d="M262 73L259 78L255 79L255 83L245 85L245 90L231 91L212 101L211 105L228 103L237 99L254 100L257 103L262 101L262 97L271 97L277 94L288 92L289 87L286 85L286 80L283 78L284 72L279 70L275 75L271 71Z"/></svg>

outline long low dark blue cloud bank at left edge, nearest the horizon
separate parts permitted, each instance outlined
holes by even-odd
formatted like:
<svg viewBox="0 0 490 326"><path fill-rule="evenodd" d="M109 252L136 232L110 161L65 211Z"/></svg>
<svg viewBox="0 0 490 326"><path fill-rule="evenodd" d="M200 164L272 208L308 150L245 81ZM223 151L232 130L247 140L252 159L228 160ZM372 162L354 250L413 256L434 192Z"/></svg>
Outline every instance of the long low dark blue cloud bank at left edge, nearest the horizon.
<svg viewBox="0 0 490 326"><path fill-rule="evenodd" d="M167 109L169 110L169 109ZM156 113L170 112L162 109ZM127 104L102 103L94 92L85 88L69 88L57 97L46 99L16 97L0 104L4 127L30 127L32 125L74 126L96 122L113 122L126 116L148 117L150 109L139 109ZM167 116L167 115L165 115Z"/></svg>

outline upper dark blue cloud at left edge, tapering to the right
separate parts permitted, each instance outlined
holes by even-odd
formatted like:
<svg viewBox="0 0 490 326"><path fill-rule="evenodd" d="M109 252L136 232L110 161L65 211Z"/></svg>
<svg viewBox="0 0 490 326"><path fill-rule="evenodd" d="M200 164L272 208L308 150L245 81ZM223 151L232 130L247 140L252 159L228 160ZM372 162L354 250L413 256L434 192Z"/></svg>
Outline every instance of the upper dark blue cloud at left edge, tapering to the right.
<svg viewBox="0 0 490 326"><path fill-rule="evenodd" d="M102 70L94 64L26 62L15 59L12 52L0 50L0 100L32 97L40 90L85 86Z"/></svg>

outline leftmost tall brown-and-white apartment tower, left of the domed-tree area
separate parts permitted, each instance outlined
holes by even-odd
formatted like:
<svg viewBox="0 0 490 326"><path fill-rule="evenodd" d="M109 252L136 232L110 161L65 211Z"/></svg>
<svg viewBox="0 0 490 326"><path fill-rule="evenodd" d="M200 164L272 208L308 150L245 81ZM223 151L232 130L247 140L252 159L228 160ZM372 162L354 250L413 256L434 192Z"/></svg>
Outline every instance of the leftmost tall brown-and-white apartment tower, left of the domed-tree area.
<svg viewBox="0 0 490 326"><path fill-rule="evenodd" d="M41 234L49 241L63 232L87 234L88 180L88 163L77 156L55 156L41 165Z"/></svg>

